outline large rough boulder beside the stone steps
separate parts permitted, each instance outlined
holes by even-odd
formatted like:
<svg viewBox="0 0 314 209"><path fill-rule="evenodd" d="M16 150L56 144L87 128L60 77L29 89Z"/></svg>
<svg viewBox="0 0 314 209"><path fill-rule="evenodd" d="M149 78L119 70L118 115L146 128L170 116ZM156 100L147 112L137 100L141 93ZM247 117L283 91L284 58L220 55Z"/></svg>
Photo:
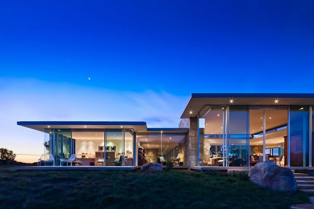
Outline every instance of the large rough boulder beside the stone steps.
<svg viewBox="0 0 314 209"><path fill-rule="evenodd" d="M257 163L249 171L250 181L280 191L296 191L296 181L290 169L271 161Z"/></svg>

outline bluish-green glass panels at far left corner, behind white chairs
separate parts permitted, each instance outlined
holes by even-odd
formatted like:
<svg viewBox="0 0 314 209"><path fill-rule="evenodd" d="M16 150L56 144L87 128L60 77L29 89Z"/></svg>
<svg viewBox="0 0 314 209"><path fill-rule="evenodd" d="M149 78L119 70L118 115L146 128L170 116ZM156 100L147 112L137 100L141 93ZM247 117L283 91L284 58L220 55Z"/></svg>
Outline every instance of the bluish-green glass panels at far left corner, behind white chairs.
<svg viewBox="0 0 314 209"><path fill-rule="evenodd" d="M59 158L69 158L71 155L71 130L55 129L54 130L54 158L56 165L59 165Z"/></svg>

